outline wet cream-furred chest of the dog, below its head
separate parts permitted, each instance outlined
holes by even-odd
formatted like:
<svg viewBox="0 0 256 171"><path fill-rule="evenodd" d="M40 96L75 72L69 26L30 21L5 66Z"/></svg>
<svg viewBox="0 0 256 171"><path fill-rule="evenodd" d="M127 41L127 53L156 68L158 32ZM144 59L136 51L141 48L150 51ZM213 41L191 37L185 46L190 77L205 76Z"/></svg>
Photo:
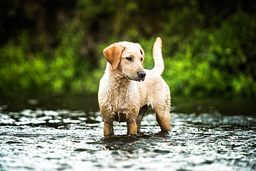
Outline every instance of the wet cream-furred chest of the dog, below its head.
<svg viewBox="0 0 256 171"><path fill-rule="evenodd" d="M100 81L98 100L102 117L125 121L136 118L140 110L140 93L135 81L109 77L105 74Z"/></svg>

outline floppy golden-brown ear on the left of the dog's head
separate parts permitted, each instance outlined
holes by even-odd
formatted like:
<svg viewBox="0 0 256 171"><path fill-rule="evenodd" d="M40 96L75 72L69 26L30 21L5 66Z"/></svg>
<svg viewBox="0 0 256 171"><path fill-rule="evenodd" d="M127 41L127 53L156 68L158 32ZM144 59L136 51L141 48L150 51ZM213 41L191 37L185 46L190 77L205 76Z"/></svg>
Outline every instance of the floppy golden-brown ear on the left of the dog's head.
<svg viewBox="0 0 256 171"><path fill-rule="evenodd" d="M121 61L122 50L124 49L125 47L120 46L118 43L113 43L111 46L103 50L103 54L107 61L111 64L113 70L118 68Z"/></svg>

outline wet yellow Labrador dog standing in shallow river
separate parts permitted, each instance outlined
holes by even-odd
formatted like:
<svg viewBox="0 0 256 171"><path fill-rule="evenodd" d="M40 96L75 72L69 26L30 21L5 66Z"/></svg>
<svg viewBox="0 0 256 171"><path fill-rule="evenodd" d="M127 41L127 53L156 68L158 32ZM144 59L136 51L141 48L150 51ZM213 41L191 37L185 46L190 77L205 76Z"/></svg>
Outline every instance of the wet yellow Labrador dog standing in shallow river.
<svg viewBox="0 0 256 171"><path fill-rule="evenodd" d="M98 90L98 104L104 121L104 136L113 135L113 121L127 123L127 134L140 131L141 120L151 106L161 132L170 131L171 97L161 77L164 70L162 40L153 47L154 68L145 70L145 53L138 43L122 41L103 50L107 66Z"/></svg>

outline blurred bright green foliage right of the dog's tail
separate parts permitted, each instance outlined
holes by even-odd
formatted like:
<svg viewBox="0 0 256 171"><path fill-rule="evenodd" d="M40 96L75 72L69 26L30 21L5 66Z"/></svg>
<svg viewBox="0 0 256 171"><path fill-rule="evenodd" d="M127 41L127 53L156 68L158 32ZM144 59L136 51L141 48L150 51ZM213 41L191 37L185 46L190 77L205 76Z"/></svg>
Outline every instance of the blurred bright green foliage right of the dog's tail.
<svg viewBox="0 0 256 171"><path fill-rule="evenodd" d="M221 21L220 28L196 27L188 37L171 36L166 43L172 57L165 59L163 77L172 93L255 97L255 17L239 9Z"/></svg>

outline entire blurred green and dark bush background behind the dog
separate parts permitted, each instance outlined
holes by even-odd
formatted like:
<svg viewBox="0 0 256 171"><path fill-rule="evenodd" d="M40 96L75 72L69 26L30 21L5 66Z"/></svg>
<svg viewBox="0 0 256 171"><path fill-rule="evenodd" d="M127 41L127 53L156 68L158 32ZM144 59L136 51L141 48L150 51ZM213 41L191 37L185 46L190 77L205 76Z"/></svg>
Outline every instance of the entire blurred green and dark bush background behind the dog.
<svg viewBox="0 0 256 171"><path fill-rule="evenodd" d="M256 97L254 1L0 2L0 93L95 93L116 41L163 39L172 94Z"/></svg>

